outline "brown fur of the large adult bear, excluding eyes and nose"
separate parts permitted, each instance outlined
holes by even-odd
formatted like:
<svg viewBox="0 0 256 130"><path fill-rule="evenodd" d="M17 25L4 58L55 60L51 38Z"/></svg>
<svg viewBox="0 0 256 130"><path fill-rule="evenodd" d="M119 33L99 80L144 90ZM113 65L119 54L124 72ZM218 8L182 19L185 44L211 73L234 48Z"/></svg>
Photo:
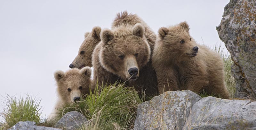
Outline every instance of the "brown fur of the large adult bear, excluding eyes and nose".
<svg viewBox="0 0 256 130"><path fill-rule="evenodd" d="M156 35L140 17L126 11L117 14L112 30L101 31L100 38L92 56L95 81L113 84L116 80L128 80L126 84L138 91L142 88L148 95L157 93L156 74L151 66ZM128 70L132 67L139 69L136 81L129 80Z"/></svg>

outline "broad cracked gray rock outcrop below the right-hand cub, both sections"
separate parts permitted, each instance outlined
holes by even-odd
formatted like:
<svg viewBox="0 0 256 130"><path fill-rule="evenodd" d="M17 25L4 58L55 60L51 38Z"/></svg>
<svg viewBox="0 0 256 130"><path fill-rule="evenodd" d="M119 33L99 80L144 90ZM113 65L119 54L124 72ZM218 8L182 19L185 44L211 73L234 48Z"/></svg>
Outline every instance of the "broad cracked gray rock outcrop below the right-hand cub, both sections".
<svg viewBox="0 0 256 130"><path fill-rule="evenodd" d="M240 125L246 125L248 122L254 125L256 102L215 97L201 98L189 90L168 91L139 105L134 130L189 130L191 126L203 130L208 128L208 125L232 129L238 124L237 120L242 123ZM230 122L234 125L227 124Z"/></svg>

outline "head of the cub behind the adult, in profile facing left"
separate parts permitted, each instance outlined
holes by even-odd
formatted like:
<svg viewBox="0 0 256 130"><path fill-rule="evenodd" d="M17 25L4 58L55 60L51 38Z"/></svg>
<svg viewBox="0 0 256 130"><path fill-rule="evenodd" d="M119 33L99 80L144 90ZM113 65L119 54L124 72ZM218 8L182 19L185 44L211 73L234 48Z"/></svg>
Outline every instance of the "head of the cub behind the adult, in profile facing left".
<svg viewBox="0 0 256 130"><path fill-rule="evenodd" d="M94 27L92 32L84 34L84 41L81 44L78 55L69 65L70 68L92 67L92 52L95 46L100 42L100 27Z"/></svg>

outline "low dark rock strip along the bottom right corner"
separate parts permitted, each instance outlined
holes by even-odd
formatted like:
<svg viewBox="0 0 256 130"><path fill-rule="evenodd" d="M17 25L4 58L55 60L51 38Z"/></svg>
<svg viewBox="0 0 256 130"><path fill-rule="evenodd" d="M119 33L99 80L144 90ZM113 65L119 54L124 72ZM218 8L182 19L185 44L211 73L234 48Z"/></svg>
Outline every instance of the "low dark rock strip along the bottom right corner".
<svg viewBox="0 0 256 130"><path fill-rule="evenodd" d="M191 130L256 130L256 121L240 119L225 124L192 126Z"/></svg>

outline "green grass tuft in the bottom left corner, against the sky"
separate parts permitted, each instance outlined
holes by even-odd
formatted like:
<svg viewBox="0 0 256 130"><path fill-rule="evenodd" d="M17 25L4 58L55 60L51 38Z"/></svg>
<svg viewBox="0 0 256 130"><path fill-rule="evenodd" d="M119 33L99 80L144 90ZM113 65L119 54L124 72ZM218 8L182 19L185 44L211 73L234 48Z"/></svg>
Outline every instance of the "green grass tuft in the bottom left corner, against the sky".
<svg viewBox="0 0 256 130"><path fill-rule="evenodd" d="M26 94L24 97L20 95L19 99L16 96L7 95L5 99L4 111L2 113L5 128L10 128L19 121L40 122L41 106L39 106L39 103L41 100L29 94Z"/></svg>

